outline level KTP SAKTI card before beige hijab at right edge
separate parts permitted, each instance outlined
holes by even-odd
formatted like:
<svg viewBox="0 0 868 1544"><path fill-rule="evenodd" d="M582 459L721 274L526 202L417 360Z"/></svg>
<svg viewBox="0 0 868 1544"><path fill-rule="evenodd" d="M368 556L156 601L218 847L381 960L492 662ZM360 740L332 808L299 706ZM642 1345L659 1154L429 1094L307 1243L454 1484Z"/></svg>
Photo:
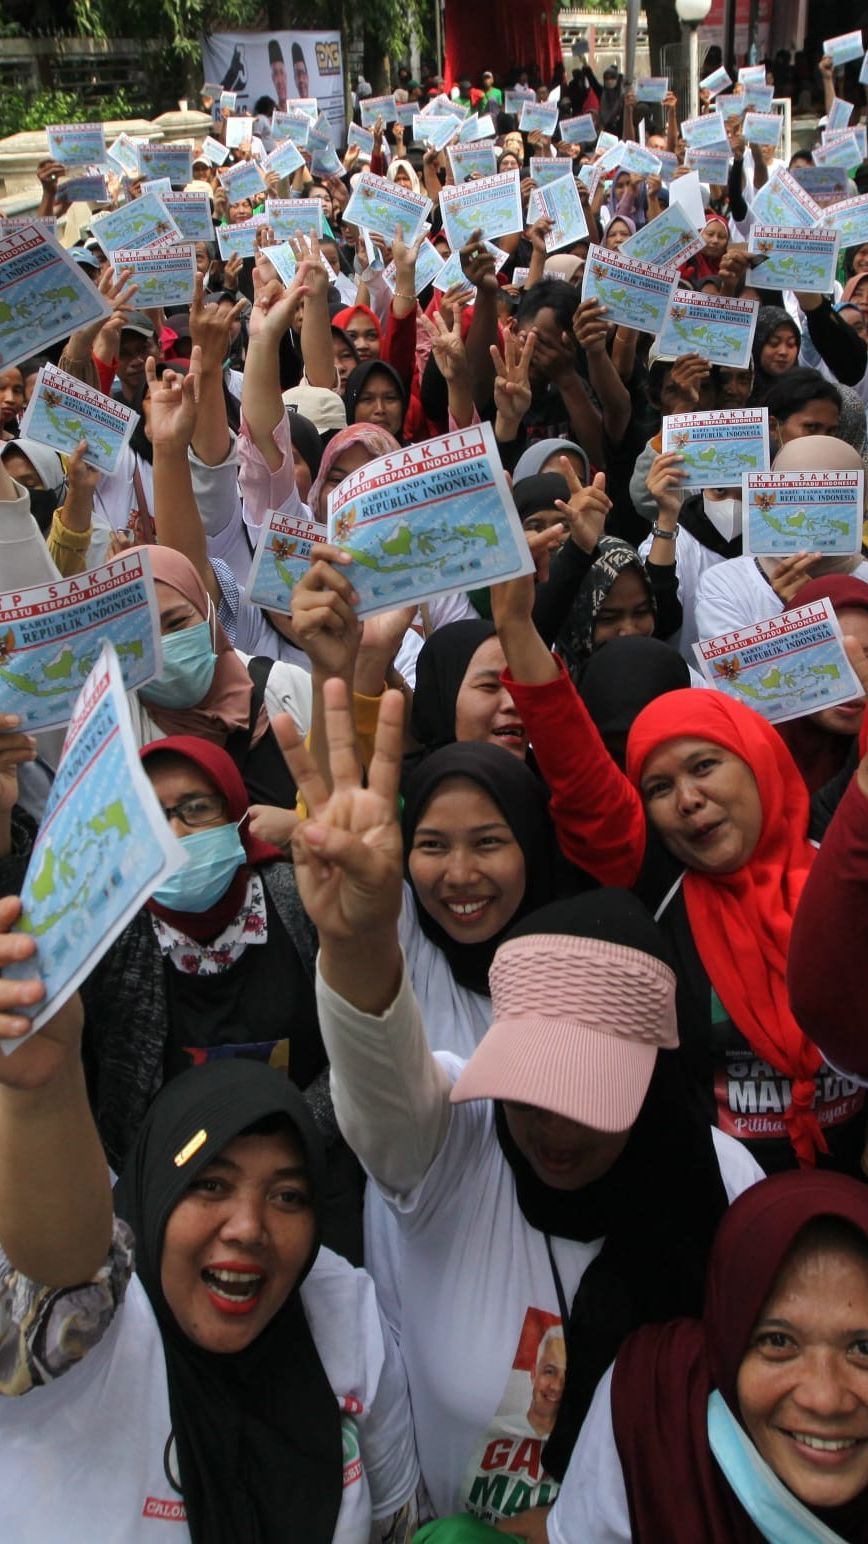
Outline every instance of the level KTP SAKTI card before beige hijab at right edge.
<svg viewBox="0 0 868 1544"><path fill-rule="evenodd" d="M862 550L865 472L746 472L741 511L746 553L854 557Z"/></svg>

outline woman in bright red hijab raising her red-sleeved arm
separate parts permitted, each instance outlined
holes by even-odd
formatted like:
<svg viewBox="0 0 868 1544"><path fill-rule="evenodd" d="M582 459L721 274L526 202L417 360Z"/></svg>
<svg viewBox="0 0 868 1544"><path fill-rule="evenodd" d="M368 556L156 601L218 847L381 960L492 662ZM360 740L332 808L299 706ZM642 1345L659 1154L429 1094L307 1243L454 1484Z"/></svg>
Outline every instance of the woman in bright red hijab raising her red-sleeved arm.
<svg viewBox="0 0 868 1544"><path fill-rule="evenodd" d="M859 1173L863 1092L823 1065L786 991L815 848L783 740L721 692L667 692L635 720L624 777L533 628L522 584L493 590L504 682L551 789L562 851L601 883L635 888L669 937L680 1055L707 1119L766 1172L820 1163Z"/></svg>

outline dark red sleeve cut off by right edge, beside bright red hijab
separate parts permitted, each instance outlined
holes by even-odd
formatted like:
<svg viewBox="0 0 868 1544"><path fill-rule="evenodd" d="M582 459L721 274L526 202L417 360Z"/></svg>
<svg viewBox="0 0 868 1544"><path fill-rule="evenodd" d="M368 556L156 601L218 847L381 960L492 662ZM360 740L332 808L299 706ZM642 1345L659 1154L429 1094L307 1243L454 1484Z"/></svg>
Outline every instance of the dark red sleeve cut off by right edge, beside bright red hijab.
<svg viewBox="0 0 868 1544"><path fill-rule="evenodd" d="M840 1072L868 1079L868 798L854 777L792 923L788 984L798 1024Z"/></svg>

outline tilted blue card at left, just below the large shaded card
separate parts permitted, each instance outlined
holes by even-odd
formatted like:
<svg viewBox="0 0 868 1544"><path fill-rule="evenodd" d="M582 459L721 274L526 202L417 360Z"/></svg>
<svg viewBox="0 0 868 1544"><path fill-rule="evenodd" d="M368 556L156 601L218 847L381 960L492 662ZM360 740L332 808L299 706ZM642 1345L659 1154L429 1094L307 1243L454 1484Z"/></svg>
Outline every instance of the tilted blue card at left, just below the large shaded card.
<svg viewBox="0 0 868 1544"><path fill-rule="evenodd" d="M88 442L85 462L100 472L117 471L139 414L96 386L85 386L56 364L43 364L22 418L22 437L71 455Z"/></svg>

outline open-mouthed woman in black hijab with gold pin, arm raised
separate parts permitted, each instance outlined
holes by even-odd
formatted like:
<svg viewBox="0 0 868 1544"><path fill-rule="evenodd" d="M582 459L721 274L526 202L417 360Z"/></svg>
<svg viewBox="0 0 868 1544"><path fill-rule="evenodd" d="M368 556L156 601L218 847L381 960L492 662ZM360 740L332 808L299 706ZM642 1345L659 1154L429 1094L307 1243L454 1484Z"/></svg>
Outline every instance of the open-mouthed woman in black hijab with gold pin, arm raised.
<svg viewBox="0 0 868 1544"><path fill-rule="evenodd" d="M17 902L0 911L6 929ZM3 931L0 963L22 953ZM22 985L0 980L6 1042ZM80 1024L73 997L0 1067L3 1164L26 1172L0 1195L0 1393L29 1394L0 1400L8 1536L91 1538L99 1516L131 1544L153 1519L195 1544L368 1544L415 1490L412 1424L371 1282L320 1248L304 1101L255 1062L185 1073L113 1221Z"/></svg>

